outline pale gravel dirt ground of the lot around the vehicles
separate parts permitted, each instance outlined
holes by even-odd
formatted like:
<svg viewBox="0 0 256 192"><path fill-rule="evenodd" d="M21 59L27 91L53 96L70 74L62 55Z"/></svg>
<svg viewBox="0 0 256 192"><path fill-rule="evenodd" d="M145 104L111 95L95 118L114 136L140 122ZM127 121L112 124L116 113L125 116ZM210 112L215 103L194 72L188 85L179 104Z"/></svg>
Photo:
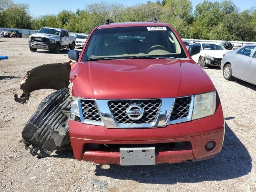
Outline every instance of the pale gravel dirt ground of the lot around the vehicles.
<svg viewBox="0 0 256 192"><path fill-rule="evenodd" d="M52 92L32 92L26 104L14 102L22 93L26 71L68 61L68 51L30 52L25 38L0 38L0 191L256 191L256 86L224 80L218 68L206 69L222 102L226 132L222 152L203 162L156 166L96 165L77 161L72 152L36 158L24 149L21 132L38 104ZM100 189L90 178L108 183Z"/></svg>

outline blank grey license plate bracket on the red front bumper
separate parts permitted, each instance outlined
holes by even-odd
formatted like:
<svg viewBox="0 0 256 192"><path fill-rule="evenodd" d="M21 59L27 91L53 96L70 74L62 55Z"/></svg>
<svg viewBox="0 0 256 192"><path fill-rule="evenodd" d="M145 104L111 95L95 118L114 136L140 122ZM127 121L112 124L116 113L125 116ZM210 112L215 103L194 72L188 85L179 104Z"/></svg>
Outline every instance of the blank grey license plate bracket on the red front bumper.
<svg viewBox="0 0 256 192"><path fill-rule="evenodd" d="M120 148L120 165L155 165L155 147Z"/></svg>

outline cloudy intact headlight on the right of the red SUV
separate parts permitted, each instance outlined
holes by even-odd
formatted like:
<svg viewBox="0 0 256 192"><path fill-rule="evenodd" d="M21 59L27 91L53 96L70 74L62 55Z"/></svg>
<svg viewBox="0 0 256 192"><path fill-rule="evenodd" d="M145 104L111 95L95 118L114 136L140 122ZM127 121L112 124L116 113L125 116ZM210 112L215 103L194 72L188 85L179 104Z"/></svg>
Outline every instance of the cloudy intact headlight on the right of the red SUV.
<svg viewBox="0 0 256 192"><path fill-rule="evenodd" d="M213 115L216 109L216 92L195 95L192 120Z"/></svg>

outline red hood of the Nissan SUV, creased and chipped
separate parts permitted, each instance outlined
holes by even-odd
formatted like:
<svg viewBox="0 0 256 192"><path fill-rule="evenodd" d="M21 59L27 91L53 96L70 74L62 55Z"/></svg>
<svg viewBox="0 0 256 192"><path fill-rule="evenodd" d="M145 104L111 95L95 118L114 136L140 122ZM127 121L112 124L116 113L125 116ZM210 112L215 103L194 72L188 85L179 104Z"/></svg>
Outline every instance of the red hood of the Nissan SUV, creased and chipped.
<svg viewBox="0 0 256 192"><path fill-rule="evenodd" d="M214 86L192 60L122 59L72 63L72 95L91 99L171 98Z"/></svg>

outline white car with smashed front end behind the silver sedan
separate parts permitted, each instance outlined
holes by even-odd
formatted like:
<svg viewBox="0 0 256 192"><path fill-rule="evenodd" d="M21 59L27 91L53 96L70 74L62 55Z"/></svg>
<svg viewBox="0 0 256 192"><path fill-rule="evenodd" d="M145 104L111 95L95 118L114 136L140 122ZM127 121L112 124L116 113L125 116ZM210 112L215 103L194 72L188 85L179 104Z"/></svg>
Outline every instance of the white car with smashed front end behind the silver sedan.
<svg viewBox="0 0 256 192"><path fill-rule="evenodd" d="M211 42L196 42L194 45L199 45L201 51L192 56L192 59L203 68L209 65L220 66L223 55L228 51L222 45Z"/></svg>

